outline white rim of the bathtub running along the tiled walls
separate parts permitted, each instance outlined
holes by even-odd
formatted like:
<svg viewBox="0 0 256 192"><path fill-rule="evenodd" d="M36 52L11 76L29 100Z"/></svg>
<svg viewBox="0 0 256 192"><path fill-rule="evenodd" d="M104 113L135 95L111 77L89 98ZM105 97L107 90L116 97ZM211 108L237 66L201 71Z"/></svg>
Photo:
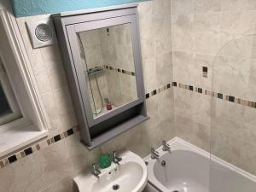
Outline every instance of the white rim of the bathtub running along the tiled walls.
<svg viewBox="0 0 256 192"><path fill-rule="evenodd" d="M218 158L217 156L210 154L201 148L196 147L195 145L193 145L191 143L186 142L185 140L183 140L180 137L174 137L167 143L171 146L171 151L173 151L173 150L189 150L189 151L195 152L196 154L201 154L202 156L206 157L207 159L211 158L212 161L240 174L243 177L247 177L248 179L250 179L256 183L256 176L254 176L253 174L246 172L246 171L242 170L241 168L238 168L237 166L234 166L234 165L228 163L227 161L222 160L222 159ZM164 152L162 150L162 147L157 148L156 150L160 153L160 156L163 154L166 154L166 152ZM148 154L144 158L144 160L145 161L151 160L150 154ZM151 173L153 173L153 172L151 172ZM149 172L148 172L148 175L149 175ZM160 182L157 180L157 183L160 183ZM160 185L162 185L162 184L160 183Z"/></svg>

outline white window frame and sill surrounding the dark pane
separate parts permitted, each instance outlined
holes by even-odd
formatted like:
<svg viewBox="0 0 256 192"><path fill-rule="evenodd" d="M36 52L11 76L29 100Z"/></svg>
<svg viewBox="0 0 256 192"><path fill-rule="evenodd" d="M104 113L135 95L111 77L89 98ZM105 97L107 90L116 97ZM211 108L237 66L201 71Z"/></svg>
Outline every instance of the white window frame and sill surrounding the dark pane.
<svg viewBox="0 0 256 192"><path fill-rule="evenodd" d="M5 7L0 3L0 56L22 118L0 125L0 136L6 140L0 148L0 159L47 137L50 125L15 16L9 3L5 3ZM15 143L15 132L19 137L20 129L34 132L34 136L19 138L19 143ZM6 139L8 137L11 142ZM5 144L8 147L4 148Z"/></svg>

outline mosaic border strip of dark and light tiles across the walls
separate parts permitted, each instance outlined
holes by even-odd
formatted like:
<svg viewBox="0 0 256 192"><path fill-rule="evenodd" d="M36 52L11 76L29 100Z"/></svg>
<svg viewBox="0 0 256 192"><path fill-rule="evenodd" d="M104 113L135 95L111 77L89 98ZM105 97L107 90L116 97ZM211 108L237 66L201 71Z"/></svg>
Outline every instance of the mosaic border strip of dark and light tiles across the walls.
<svg viewBox="0 0 256 192"><path fill-rule="evenodd" d="M181 88L183 90L195 91L199 94L206 95L206 96L213 96L215 98L218 98L218 99L221 99L221 100L224 100L227 102L234 102L236 104L247 106L249 108L256 108L256 102L251 102L251 101L248 101L245 99L241 99L237 96L230 96L230 95L226 95L226 94L219 93L216 91L207 90L207 89L203 89L203 88L196 87L193 85L182 84L182 83L177 83L177 82L165 84L158 89L149 91L148 93L145 94L145 97L146 97L146 99L149 99L152 96L155 96L164 90L170 89L171 87L177 87L177 88ZM39 151L43 148L47 148L51 144L57 143L67 137L70 137L76 132L79 132L78 126L74 126L73 128L71 128L67 131L63 131L60 134L55 135L54 137L50 137L41 143L33 144L26 149L20 150L20 151L16 152L15 154L11 154L11 155L9 155L9 157L0 160L0 170L3 169L3 167L5 167L5 166L9 166L10 164L15 163L16 161L23 159L30 154L33 154L35 151Z"/></svg>

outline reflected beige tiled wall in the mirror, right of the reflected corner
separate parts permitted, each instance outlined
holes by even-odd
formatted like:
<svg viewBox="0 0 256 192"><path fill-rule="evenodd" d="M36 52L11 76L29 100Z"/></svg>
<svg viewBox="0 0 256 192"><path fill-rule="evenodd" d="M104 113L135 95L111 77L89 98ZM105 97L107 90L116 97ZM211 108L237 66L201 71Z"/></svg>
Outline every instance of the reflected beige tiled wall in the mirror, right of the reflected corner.
<svg viewBox="0 0 256 192"><path fill-rule="evenodd" d="M108 65L106 79L108 82L109 100L119 107L137 99L136 78L126 73L117 73L119 69L134 73L134 58L132 53L131 26L124 24L111 26L100 32L102 53L105 65ZM110 70L109 70L110 69Z"/></svg>

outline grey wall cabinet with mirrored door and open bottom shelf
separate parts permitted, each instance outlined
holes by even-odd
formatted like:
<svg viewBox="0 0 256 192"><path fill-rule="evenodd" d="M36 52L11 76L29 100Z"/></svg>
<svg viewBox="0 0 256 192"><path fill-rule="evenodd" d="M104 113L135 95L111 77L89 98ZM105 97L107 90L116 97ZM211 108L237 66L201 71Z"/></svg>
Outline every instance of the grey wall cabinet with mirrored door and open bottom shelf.
<svg viewBox="0 0 256 192"><path fill-rule="evenodd" d="M147 120L137 4L61 13L53 20L86 147Z"/></svg>

